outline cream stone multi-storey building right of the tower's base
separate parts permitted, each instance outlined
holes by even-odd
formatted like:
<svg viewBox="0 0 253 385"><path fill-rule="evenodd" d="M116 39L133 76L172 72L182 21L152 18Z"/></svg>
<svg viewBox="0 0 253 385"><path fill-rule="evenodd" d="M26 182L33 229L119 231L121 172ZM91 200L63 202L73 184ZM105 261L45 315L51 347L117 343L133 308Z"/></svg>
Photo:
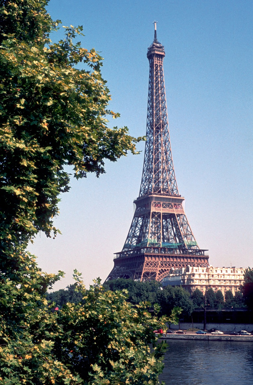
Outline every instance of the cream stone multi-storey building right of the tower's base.
<svg viewBox="0 0 253 385"><path fill-rule="evenodd" d="M178 286L182 285L190 294L196 289L199 289L204 294L206 289L213 288L214 291L221 290L225 295L227 290L231 290L233 295L239 290L243 284L243 274L245 268L233 267L194 267L187 266L171 270L171 273L166 276L162 285Z"/></svg>

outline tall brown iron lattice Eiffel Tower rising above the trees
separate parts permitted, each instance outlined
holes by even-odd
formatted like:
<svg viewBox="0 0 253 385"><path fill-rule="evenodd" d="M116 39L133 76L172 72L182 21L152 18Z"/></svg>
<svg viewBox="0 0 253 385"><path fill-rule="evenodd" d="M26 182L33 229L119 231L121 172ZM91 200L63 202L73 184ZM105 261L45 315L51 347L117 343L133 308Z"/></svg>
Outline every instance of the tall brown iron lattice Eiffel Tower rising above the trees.
<svg viewBox="0 0 253 385"><path fill-rule="evenodd" d="M157 40L148 48L149 82L145 154L140 194L133 221L107 280L161 281L175 269L209 266L199 248L179 195L170 148L164 84L164 46Z"/></svg>

